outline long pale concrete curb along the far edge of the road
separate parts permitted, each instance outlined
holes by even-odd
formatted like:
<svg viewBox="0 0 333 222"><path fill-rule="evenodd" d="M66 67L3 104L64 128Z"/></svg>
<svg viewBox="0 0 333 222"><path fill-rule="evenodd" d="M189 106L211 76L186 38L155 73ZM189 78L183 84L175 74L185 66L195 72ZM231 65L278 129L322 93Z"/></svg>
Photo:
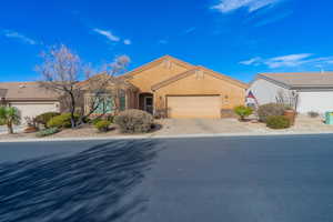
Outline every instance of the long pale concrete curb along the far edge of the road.
<svg viewBox="0 0 333 222"><path fill-rule="evenodd" d="M279 137L279 135L320 135L333 132L269 132L269 133L214 133L214 134L180 134L180 135L122 135L108 138L42 138L0 140L0 143L13 142L65 142L65 141L102 141L102 140L143 140L143 139L191 139L191 138L239 138L239 137Z"/></svg>

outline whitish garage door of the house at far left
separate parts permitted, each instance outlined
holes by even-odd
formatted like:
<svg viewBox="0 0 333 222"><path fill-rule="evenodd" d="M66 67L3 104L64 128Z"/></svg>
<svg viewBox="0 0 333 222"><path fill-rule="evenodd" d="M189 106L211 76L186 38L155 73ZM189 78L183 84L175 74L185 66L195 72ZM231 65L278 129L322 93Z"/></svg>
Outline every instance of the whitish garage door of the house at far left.
<svg viewBox="0 0 333 222"><path fill-rule="evenodd" d="M24 118L30 117L34 118L44 112L57 112L59 108L57 107L56 102L49 103L28 103L28 102L13 102L10 103L11 107L16 107L20 110L22 124L26 123Z"/></svg>

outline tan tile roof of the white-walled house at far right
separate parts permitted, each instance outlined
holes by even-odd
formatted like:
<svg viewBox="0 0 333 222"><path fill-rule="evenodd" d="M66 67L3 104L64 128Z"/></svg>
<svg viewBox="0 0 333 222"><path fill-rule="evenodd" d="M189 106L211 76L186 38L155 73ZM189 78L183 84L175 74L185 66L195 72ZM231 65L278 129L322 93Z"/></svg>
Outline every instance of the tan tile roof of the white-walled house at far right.
<svg viewBox="0 0 333 222"><path fill-rule="evenodd" d="M261 73L259 78L273 80L291 88L333 88L333 72Z"/></svg>

